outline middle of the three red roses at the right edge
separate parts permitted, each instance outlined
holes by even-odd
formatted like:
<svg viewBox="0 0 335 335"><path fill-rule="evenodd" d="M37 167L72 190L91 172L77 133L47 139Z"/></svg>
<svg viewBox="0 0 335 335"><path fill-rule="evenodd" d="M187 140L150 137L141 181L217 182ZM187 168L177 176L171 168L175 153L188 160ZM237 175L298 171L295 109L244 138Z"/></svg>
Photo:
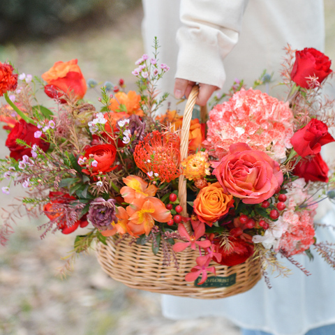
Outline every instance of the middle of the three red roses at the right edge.
<svg viewBox="0 0 335 335"><path fill-rule="evenodd" d="M311 119L304 128L299 129L291 138L293 149L301 157L315 155L321 151L321 146L334 142L328 133L327 124L318 119Z"/></svg>

